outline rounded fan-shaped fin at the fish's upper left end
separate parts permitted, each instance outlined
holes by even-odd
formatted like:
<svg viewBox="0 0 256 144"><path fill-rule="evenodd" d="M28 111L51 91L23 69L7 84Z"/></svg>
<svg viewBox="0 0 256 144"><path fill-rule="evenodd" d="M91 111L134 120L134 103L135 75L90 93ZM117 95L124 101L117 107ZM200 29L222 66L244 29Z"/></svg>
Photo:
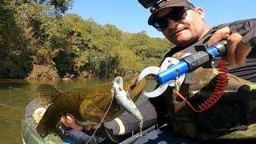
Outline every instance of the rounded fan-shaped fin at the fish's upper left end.
<svg viewBox="0 0 256 144"><path fill-rule="evenodd" d="M42 84L38 87L38 103L42 106L49 105L62 94L55 86L49 84Z"/></svg>

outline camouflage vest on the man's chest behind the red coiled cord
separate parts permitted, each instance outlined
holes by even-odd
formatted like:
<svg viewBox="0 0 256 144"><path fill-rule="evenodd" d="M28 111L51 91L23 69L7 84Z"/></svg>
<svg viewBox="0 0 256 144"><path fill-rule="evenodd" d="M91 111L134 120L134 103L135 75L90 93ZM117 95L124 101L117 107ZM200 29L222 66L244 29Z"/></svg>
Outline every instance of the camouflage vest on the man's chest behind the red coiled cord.
<svg viewBox="0 0 256 144"><path fill-rule="evenodd" d="M215 30L194 44L203 44ZM194 53L194 46L179 51L172 57L180 59ZM198 107L213 93L218 69L202 66L190 74L181 86L180 93ZM186 102L171 94L170 87L162 97L170 113L170 124L174 134L199 140L207 139L256 139L256 83L227 74L228 83L222 98L209 109L196 113ZM169 91L169 92L168 92Z"/></svg>

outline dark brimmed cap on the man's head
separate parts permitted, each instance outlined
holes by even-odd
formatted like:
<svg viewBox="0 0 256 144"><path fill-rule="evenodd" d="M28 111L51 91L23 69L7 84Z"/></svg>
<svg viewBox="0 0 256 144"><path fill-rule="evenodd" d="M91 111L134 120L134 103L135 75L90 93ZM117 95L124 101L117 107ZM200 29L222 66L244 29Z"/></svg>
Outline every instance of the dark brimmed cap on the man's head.
<svg viewBox="0 0 256 144"><path fill-rule="evenodd" d="M166 9L168 7L178 7L178 6L195 7L189 0L162 0L162 2L159 2L158 5L150 7L150 12L152 14L150 15L148 24L151 26L154 23L156 18L155 16L156 14L158 14L160 10Z"/></svg>

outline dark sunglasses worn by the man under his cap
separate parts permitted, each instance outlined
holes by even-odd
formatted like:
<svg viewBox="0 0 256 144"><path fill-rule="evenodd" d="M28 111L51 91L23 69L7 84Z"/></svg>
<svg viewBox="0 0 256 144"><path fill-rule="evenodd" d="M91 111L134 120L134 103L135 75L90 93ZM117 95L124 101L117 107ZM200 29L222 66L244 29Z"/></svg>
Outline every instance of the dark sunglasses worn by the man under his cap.
<svg viewBox="0 0 256 144"><path fill-rule="evenodd" d="M161 18L156 18L153 22L152 26L156 28L158 31L166 30L166 27L168 26L169 19L178 21L182 18L186 17L186 10L190 10L189 7L174 7L168 14Z"/></svg>

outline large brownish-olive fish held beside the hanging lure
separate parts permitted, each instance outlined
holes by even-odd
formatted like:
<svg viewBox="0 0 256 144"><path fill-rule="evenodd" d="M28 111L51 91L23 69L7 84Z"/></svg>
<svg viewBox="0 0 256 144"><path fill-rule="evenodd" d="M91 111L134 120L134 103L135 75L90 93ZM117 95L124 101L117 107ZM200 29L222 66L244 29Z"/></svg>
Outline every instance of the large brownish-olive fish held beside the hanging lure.
<svg viewBox="0 0 256 144"><path fill-rule="evenodd" d="M129 91L129 96L136 101L142 90L146 87L146 80L138 82L138 74L123 78L123 90ZM58 134L58 122L62 114L71 114L78 123L86 126L99 123L106 114L112 98L114 97L113 82L105 85L78 88L62 93L54 86L44 84L38 87L38 102L42 105L50 105L42 116L37 126L37 132L42 138L48 134ZM103 122L109 122L123 110L113 98L110 110L107 112Z"/></svg>

